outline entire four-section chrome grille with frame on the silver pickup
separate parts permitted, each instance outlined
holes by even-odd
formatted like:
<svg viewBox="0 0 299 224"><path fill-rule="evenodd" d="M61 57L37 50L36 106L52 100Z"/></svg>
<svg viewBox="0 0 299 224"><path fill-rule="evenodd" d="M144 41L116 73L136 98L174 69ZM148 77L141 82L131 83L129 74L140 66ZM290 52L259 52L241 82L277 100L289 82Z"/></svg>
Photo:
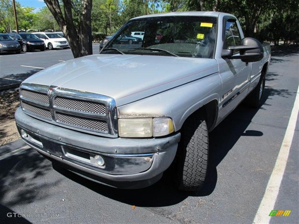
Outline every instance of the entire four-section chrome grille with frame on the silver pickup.
<svg viewBox="0 0 299 224"><path fill-rule="evenodd" d="M22 83L21 106L28 115L86 133L117 138L117 111L113 98L39 84Z"/></svg>

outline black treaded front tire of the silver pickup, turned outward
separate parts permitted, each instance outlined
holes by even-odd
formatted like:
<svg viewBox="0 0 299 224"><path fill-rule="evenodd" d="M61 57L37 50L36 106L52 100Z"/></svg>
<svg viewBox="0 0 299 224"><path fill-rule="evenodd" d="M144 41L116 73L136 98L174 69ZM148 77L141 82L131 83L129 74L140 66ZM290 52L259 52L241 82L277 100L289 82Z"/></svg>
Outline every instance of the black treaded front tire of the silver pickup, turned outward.
<svg viewBox="0 0 299 224"><path fill-rule="evenodd" d="M198 191L208 171L209 138L205 119L191 116L181 129L176 157L176 184L182 191Z"/></svg>

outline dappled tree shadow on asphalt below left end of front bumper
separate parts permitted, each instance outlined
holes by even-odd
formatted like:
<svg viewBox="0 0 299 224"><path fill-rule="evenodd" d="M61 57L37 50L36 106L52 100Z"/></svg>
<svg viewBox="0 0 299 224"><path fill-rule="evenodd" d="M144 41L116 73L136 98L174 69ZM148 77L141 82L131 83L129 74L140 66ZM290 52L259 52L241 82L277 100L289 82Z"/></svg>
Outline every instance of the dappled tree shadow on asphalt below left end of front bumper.
<svg viewBox="0 0 299 224"><path fill-rule="evenodd" d="M59 182L38 181L52 169L51 162L32 148L1 159L0 168L0 203L8 207L45 199Z"/></svg>

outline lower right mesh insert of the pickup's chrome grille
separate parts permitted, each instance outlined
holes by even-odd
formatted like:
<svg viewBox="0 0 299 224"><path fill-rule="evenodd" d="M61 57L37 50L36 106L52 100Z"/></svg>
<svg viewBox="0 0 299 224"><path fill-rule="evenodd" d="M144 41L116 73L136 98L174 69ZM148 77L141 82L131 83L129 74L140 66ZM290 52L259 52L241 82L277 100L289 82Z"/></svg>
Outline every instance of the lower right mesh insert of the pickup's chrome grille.
<svg viewBox="0 0 299 224"><path fill-rule="evenodd" d="M87 128L93 131L101 131L101 132L108 133L107 122L103 120L91 119L91 118L56 112L56 121L63 124L74 125L80 128Z"/></svg>

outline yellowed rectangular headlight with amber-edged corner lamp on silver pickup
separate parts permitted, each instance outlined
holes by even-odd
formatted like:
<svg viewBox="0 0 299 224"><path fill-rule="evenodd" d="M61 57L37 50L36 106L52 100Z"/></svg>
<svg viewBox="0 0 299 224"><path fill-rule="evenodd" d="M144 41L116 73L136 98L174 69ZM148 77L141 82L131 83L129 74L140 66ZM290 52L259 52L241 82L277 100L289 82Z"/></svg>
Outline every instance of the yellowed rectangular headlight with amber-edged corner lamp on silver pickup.
<svg viewBox="0 0 299 224"><path fill-rule="evenodd" d="M174 131L168 117L118 119L118 134L125 138L158 137Z"/></svg>

